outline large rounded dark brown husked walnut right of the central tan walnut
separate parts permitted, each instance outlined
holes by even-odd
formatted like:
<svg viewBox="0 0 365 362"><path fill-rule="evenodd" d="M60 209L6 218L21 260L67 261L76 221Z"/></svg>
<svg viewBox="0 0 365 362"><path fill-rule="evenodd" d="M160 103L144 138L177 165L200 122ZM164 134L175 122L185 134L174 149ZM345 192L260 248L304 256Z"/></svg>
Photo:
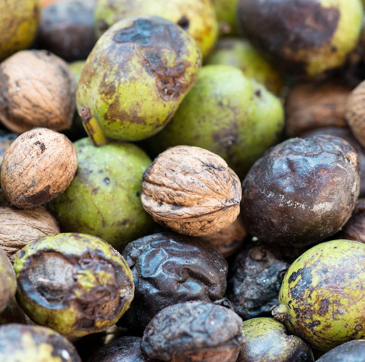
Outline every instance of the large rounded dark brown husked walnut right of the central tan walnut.
<svg viewBox="0 0 365 362"><path fill-rule="evenodd" d="M256 161L242 189L247 233L281 245L313 244L338 232L354 210L357 153L339 137L290 138Z"/></svg>

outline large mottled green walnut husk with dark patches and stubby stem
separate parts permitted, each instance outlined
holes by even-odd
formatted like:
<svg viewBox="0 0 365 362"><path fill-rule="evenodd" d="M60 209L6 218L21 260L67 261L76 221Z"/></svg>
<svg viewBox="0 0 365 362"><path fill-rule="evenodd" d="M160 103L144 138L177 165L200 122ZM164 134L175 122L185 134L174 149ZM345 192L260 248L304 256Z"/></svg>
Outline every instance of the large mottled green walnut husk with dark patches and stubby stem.
<svg viewBox="0 0 365 362"><path fill-rule="evenodd" d="M76 106L95 145L160 131L195 82L201 52L180 26L157 16L119 20L82 69Z"/></svg>

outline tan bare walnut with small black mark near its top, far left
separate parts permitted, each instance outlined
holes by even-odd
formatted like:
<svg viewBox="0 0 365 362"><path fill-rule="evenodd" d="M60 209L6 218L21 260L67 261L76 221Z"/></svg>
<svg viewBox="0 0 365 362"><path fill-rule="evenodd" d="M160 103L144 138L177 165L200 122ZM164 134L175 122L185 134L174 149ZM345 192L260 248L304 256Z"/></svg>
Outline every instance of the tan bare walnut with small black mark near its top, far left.
<svg viewBox="0 0 365 362"><path fill-rule="evenodd" d="M29 209L65 191L76 169L73 143L64 134L35 127L8 148L1 164L0 184L10 205Z"/></svg>

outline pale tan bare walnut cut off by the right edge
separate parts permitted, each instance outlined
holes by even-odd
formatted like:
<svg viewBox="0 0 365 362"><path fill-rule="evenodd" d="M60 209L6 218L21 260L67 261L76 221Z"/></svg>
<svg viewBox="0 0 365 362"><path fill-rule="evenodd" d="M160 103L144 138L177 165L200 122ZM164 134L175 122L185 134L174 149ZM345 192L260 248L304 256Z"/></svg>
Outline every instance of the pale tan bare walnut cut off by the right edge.
<svg viewBox="0 0 365 362"><path fill-rule="evenodd" d="M345 118L354 137L365 147L365 81L350 93L345 107Z"/></svg>

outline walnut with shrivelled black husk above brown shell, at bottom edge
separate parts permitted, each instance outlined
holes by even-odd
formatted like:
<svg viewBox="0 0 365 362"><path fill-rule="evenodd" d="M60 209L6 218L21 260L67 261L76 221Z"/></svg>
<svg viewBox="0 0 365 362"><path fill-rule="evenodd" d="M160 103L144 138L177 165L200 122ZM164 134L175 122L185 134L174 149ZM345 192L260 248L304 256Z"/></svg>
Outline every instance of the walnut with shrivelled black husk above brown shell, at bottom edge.
<svg viewBox="0 0 365 362"><path fill-rule="evenodd" d="M173 362L235 362L245 338L242 319L230 308L185 302L162 309L147 325L141 350Z"/></svg>

